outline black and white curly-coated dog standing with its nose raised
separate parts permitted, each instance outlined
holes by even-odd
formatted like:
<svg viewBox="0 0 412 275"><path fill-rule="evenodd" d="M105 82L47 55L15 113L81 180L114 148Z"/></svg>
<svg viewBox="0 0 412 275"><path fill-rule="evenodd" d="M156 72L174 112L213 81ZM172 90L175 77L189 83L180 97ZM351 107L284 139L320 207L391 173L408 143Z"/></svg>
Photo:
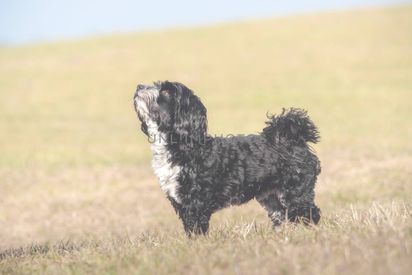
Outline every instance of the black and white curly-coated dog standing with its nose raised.
<svg viewBox="0 0 412 275"><path fill-rule="evenodd" d="M267 115L260 135L212 138L205 106L181 83L140 84L133 105L142 131L154 139L152 166L160 187L189 235L206 233L214 212L252 199L274 226L286 217L318 223L314 187L321 166L307 142L320 137L306 111Z"/></svg>

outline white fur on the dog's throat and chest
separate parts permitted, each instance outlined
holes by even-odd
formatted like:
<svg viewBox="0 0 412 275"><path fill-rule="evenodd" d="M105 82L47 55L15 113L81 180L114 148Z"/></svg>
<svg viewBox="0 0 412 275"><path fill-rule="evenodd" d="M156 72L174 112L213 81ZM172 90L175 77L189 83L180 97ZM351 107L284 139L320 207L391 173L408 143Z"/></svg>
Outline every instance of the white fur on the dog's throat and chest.
<svg viewBox="0 0 412 275"><path fill-rule="evenodd" d="M155 139L155 142L150 144L150 150L153 152L152 167L159 178L160 187L177 202L181 202L177 194L178 182L176 177L182 167L171 167L170 162L168 162L169 152L166 147L166 139L161 138L162 133L157 131L157 124L155 122L149 121L147 123L147 132Z"/></svg>

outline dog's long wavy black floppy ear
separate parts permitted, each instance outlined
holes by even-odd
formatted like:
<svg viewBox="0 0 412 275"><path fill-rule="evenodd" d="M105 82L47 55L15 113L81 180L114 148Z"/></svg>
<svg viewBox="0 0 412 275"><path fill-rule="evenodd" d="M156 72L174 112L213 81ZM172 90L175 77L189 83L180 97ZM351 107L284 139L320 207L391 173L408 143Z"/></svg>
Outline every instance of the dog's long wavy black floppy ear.
<svg viewBox="0 0 412 275"><path fill-rule="evenodd" d="M186 87L176 109L174 130L177 134L200 140L207 134L206 108Z"/></svg>

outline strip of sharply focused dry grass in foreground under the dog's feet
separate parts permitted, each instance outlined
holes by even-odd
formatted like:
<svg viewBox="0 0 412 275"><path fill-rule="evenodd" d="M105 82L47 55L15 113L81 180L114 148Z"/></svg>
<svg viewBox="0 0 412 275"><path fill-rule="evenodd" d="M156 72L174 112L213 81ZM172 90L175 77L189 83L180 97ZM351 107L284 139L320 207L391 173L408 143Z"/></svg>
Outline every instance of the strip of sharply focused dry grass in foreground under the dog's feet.
<svg viewBox="0 0 412 275"><path fill-rule="evenodd" d="M197 240L180 233L93 236L9 249L0 259L5 274L402 274L412 268L411 218L410 207L373 202L368 209L333 212L313 228L289 223L275 233L240 222Z"/></svg>

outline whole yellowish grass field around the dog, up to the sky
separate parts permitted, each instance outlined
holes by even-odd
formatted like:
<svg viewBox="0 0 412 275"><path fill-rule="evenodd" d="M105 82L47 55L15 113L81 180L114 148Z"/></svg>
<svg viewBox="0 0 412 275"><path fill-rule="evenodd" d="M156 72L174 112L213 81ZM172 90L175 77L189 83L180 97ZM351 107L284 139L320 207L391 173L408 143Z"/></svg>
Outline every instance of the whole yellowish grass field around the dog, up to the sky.
<svg viewBox="0 0 412 275"><path fill-rule="evenodd" d="M253 201L187 240L150 167L135 87L183 82L210 134L309 110L319 226ZM0 48L0 274L406 274L412 5Z"/></svg>

